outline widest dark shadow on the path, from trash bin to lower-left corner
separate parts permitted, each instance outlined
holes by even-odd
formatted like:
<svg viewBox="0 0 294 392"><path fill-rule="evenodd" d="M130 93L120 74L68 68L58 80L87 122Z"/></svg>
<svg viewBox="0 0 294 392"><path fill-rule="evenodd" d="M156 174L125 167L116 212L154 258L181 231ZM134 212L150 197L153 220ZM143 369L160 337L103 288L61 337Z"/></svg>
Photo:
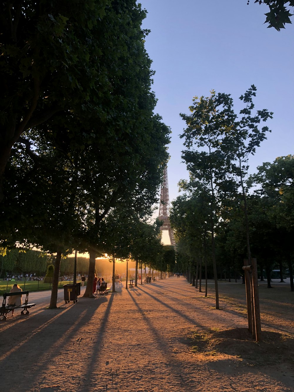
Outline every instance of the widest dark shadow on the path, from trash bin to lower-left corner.
<svg viewBox="0 0 294 392"><path fill-rule="evenodd" d="M107 301L107 299L105 298L103 301ZM111 306L112 300L109 302L108 307ZM83 303L92 306L83 309ZM67 350L69 345L73 345L77 340L76 336L82 336L81 328L91 320L100 304L102 304L102 301L83 299L67 309L46 309L41 312L42 315L39 314L39 320L42 316L42 320L45 321L42 325L38 322L37 314L33 318L27 319L27 324L23 328L24 334L21 333L20 323L5 330L1 334L1 346L5 345L3 342L11 341L11 336L13 336L14 347L2 355L0 359L3 372L2 382L9 385L11 382L11 364L22 356L27 358L27 361L23 364L22 372L30 374L30 383L33 384L41 376L42 369L46 368L54 357L58 356L63 350ZM103 332L105 323L106 321L102 319L100 334ZM29 334L27 334L28 329L30 330ZM33 347L39 347L39 350L36 351Z"/></svg>

